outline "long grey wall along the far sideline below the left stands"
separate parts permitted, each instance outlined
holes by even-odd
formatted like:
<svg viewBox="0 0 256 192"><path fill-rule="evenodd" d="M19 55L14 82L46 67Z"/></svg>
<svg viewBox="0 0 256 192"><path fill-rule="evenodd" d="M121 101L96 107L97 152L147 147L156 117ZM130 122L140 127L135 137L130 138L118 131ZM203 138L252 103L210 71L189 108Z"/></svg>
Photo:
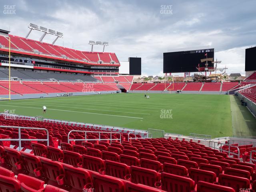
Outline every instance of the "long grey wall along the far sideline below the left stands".
<svg viewBox="0 0 256 192"><path fill-rule="evenodd" d="M121 91L119 91L121 92ZM116 91L100 91L101 94L112 94L112 93L116 93ZM40 97L44 97L44 98L48 98L48 97L57 97L57 94L60 95L64 94L63 92L61 93L49 93L49 94L24 94L24 95L11 95L11 99L15 100L15 99L34 99L34 98L40 98ZM69 94L69 93L68 93ZM73 92L72 93L73 96L80 96L80 95L96 95L98 94L98 92ZM8 95L0 95L0 98L8 98ZM0 99L0 100L4 100L4 99Z"/></svg>

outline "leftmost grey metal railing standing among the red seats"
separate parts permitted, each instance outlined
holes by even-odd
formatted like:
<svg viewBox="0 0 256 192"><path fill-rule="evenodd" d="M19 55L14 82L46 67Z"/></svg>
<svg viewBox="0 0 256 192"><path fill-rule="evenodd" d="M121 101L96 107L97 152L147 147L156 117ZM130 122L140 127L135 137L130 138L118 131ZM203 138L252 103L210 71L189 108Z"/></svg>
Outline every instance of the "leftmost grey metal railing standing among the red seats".
<svg viewBox="0 0 256 192"><path fill-rule="evenodd" d="M0 139L0 141L18 141L19 142L19 151L21 150L21 142L22 141L46 141L47 146L49 146L49 132L45 128L34 128L34 127L18 127L18 126L0 126L0 128L13 128L18 129L18 139ZM46 139L22 139L21 138L21 129L34 129L34 130L45 130L46 131Z"/></svg>

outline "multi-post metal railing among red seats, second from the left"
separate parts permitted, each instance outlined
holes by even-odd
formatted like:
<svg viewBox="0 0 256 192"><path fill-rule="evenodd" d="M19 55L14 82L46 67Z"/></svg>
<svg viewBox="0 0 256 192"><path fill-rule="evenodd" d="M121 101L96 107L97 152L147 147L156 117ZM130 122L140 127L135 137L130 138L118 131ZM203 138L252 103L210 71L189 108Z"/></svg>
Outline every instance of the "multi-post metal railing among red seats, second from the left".
<svg viewBox="0 0 256 192"><path fill-rule="evenodd" d="M84 139L70 139L70 133L72 132L83 132L84 133ZM95 134L99 134L99 138L98 139L87 139L87 133L95 133ZM101 139L100 138L100 134L104 133L104 134L110 134L110 138L109 139ZM112 139L112 134L120 134L120 138L115 138ZM112 142L112 140L120 140L120 143L122 142L122 138L121 138L121 133L118 132L104 132L104 131L81 131L81 130L71 130L70 132L68 132L68 143L70 143L70 141L110 141L110 143Z"/></svg>

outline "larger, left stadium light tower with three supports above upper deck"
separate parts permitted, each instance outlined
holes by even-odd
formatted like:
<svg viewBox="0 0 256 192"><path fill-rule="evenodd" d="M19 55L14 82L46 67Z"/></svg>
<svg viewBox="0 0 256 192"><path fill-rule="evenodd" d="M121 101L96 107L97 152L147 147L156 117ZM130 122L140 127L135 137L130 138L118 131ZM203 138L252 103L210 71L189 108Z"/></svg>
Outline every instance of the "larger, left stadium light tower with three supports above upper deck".
<svg viewBox="0 0 256 192"><path fill-rule="evenodd" d="M26 35L26 38L28 38L28 36L29 36L29 34L31 33L32 30L38 30L38 31L43 32L43 34L42 34L42 36L40 37L40 40L39 40L40 42L42 42L42 40L44 39L46 34L51 34L51 35L57 36L56 39L52 42L52 44L54 44L59 37L60 38L63 37L63 33L61 33L61 32L58 32L58 31L56 32L55 30L47 29L45 27L38 26L36 24L30 23L28 28L30 28L30 30L29 30L28 34Z"/></svg>

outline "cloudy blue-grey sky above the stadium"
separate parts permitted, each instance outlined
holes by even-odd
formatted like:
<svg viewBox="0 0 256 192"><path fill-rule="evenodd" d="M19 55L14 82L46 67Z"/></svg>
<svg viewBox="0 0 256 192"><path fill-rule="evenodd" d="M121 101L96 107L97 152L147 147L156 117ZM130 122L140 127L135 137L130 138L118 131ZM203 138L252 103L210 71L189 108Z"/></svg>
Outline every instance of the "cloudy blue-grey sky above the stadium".
<svg viewBox="0 0 256 192"><path fill-rule="evenodd" d="M108 41L120 61L142 58L143 75L163 75L163 52L208 46L229 73L244 72L245 48L256 45L255 0L1 0L0 28L26 36L34 23L63 32L56 44L90 51ZM15 14L4 14L14 5ZM164 9L164 10L163 10ZM42 34L33 31L30 38ZM52 42L46 36L44 42ZM95 51L102 47L95 46Z"/></svg>

